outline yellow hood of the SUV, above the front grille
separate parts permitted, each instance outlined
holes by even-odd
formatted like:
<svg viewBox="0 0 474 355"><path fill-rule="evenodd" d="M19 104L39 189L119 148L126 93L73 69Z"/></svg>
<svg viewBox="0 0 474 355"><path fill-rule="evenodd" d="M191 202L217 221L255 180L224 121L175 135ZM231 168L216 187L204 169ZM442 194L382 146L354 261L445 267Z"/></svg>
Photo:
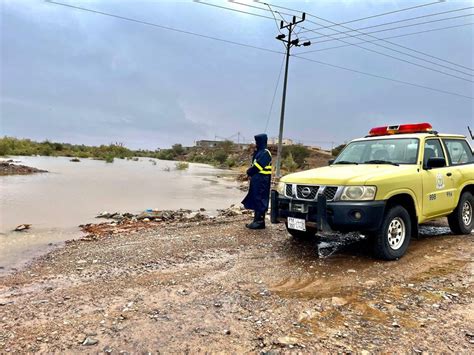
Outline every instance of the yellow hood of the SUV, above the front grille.
<svg viewBox="0 0 474 355"><path fill-rule="evenodd" d="M331 165L284 176L285 183L309 185L366 185L413 173L416 165Z"/></svg>

